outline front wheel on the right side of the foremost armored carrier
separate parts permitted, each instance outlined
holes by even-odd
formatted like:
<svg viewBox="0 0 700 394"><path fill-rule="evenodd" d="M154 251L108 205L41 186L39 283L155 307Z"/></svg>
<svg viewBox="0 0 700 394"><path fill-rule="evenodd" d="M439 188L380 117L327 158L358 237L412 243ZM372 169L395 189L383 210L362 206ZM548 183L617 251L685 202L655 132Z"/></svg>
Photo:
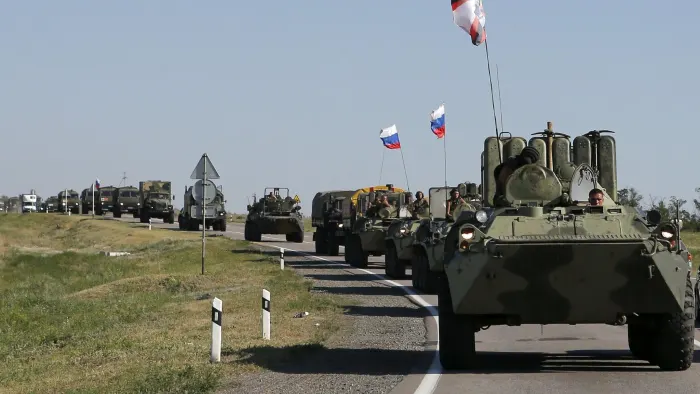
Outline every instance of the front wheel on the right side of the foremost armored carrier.
<svg viewBox="0 0 700 394"><path fill-rule="evenodd" d="M655 342L654 364L662 370L685 371L693 364L695 312L693 283L687 278L683 310L661 317L659 329L652 337Z"/></svg>

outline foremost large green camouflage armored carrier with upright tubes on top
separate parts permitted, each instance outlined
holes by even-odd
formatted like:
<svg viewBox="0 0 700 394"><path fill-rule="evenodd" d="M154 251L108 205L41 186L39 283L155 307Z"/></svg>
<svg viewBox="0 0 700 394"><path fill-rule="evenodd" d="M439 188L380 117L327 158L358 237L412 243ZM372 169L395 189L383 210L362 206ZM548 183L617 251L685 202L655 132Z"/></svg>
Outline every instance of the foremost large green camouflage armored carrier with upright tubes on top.
<svg viewBox="0 0 700 394"><path fill-rule="evenodd" d="M574 139L489 137L485 207L462 212L445 239L438 271L440 361L477 365L474 335L493 325L627 324L638 359L662 370L693 362L695 300L676 224L616 202L616 142L600 132ZM528 144L546 160L493 173ZM573 158L571 157L573 152ZM588 205L591 189L602 205Z"/></svg>

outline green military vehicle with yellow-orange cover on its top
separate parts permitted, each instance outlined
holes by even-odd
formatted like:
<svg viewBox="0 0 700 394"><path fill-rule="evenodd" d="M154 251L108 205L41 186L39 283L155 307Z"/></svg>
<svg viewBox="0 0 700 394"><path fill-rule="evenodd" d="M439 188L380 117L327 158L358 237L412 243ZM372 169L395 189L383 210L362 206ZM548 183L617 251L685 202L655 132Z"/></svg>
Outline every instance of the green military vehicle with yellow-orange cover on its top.
<svg viewBox="0 0 700 394"><path fill-rule="evenodd" d="M389 208L370 206L382 195L387 196ZM370 255L383 256L387 230L394 221L411 217L407 209L410 202L411 193L393 184L360 189L353 194L351 203L343 205L345 262L366 268Z"/></svg>

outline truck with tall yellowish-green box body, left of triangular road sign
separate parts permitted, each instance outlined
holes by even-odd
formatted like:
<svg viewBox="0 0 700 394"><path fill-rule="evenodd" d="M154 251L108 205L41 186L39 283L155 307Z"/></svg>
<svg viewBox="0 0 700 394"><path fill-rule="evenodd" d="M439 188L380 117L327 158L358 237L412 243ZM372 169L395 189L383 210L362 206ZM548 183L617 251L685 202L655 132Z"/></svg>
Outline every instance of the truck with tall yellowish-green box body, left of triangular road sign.
<svg viewBox="0 0 700 394"><path fill-rule="evenodd" d="M138 217L141 223L151 218L163 219L163 223L175 223L172 184L170 181L139 182Z"/></svg>

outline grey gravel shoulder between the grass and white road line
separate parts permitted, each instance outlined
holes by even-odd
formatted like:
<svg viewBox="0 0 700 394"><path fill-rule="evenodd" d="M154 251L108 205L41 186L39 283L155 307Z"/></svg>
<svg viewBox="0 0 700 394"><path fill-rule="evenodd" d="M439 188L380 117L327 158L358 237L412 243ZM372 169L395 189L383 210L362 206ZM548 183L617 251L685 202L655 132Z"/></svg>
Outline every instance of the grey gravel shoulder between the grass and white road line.
<svg viewBox="0 0 700 394"><path fill-rule="evenodd" d="M278 370L247 376L220 394L389 393L408 374L425 371L427 311L405 293L370 275L339 265L288 255L286 267L314 281L312 291L341 294L359 306L347 308L346 324L313 352Z"/></svg>

